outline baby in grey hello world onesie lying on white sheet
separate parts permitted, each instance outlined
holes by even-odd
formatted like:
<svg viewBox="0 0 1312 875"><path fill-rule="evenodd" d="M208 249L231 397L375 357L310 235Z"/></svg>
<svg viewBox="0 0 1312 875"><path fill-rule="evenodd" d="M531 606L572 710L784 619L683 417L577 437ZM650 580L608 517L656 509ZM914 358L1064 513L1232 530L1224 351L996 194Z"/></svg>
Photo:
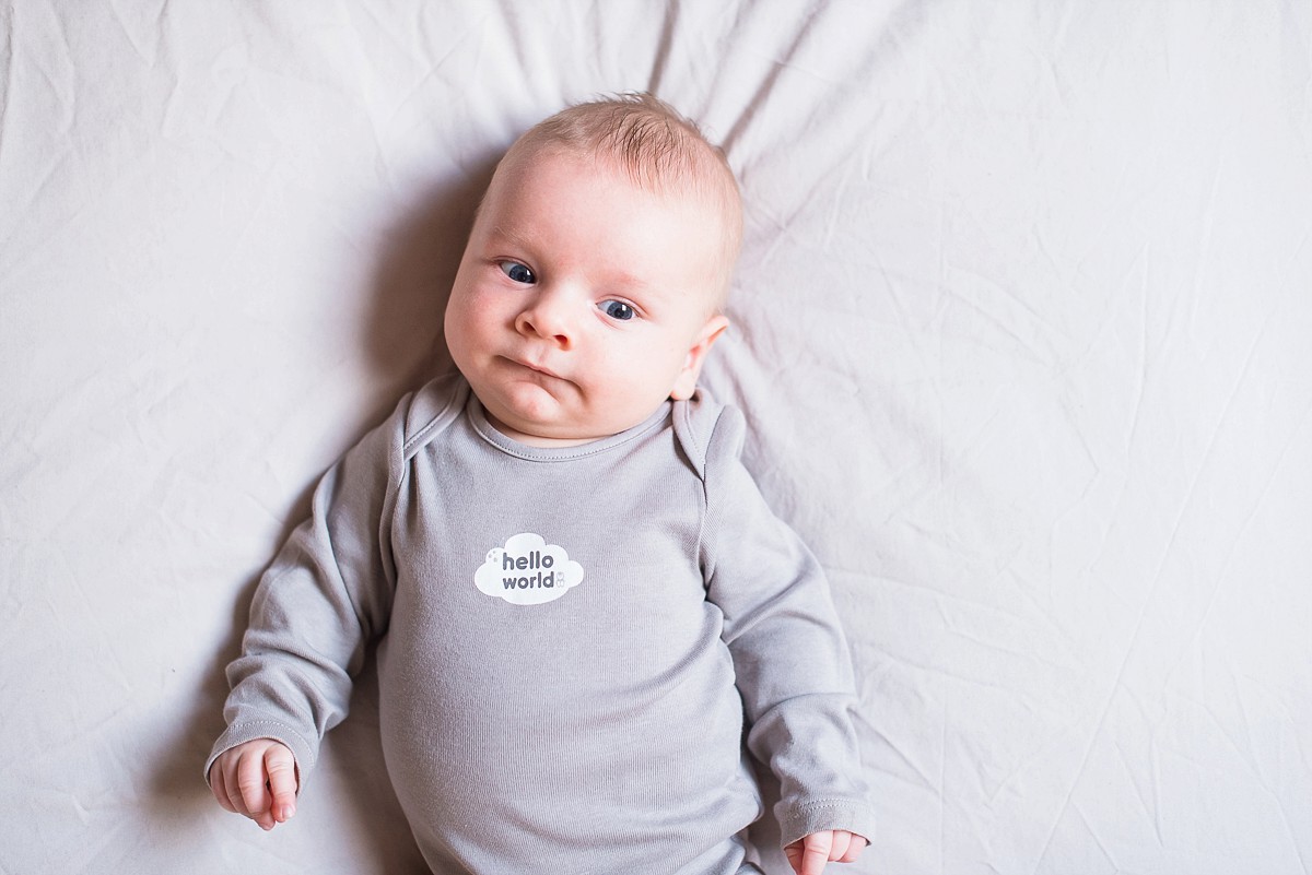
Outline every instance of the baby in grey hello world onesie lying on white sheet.
<svg viewBox="0 0 1312 875"><path fill-rule="evenodd" d="M458 375L323 478L228 667L206 772L265 829L378 647L383 753L434 872L798 872L871 808L828 584L697 392L741 237L719 149L649 96L525 134L446 309Z"/></svg>

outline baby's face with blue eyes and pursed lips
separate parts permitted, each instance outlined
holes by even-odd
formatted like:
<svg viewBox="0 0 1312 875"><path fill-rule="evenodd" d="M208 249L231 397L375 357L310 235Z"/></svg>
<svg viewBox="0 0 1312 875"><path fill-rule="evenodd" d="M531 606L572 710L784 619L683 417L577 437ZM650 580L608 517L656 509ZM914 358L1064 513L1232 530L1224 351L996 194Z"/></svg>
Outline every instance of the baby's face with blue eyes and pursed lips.
<svg viewBox="0 0 1312 875"><path fill-rule="evenodd" d="M596 440L687 398L727 322L723 217L588 156L502 166L446 308L446 343L493 424Z"/></svg>

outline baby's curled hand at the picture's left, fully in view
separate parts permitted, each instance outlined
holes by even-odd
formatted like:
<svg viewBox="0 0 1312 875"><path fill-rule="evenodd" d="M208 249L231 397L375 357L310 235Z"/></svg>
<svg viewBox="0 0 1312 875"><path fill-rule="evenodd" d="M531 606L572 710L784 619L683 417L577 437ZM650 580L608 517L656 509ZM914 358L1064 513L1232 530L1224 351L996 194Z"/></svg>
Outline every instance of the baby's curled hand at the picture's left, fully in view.
<svg viewBox="0 0 1312 875"><path fill-rule="evenodd" d="M210 766L210 790L219 804L265 830L297 813L298 789L297 758L272 739L239 744Z"/></svg>

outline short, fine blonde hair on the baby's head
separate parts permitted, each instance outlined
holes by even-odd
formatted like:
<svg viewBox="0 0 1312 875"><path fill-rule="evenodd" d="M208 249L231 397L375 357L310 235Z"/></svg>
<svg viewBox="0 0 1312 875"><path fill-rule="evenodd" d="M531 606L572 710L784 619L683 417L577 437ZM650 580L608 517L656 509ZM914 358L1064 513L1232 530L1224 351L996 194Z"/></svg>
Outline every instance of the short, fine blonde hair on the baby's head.
<svg viewBox="0 0 1312 875"><path fill-rule="evenodd" d="M610 164L634 185L660 194L687 194L716 208L724 229L724 288L743 245L743 200L724 151L695 122L647 93L576 103L529 128L501 158L512 166L543 151L586 155Z"/></svg>

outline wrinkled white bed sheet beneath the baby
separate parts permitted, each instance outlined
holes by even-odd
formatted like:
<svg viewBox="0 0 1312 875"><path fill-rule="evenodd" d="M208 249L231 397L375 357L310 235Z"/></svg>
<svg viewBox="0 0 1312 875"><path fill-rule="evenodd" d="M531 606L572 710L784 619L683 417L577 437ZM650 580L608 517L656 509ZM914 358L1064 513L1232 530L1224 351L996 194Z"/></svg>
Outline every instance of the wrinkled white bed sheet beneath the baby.
<svg viewBox="0 0 1312 875"><path fill-rule="evenodd" d="M743 182L705 382L833 575L882 816L846 871L1312 868L1308 3L0 30L0 871L421 871L367 675L293 824L210 800L222 667L318 474L443 367L499 151L623 89Z"/></svg>

